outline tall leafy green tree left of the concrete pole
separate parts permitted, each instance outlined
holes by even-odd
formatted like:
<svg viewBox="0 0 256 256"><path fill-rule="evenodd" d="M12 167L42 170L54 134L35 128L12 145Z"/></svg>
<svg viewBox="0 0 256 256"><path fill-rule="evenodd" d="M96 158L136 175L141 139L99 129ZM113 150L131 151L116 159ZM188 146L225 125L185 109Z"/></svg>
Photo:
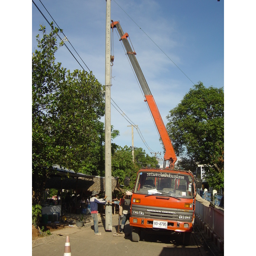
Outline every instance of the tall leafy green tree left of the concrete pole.
<svg viewBox="0 0 256 256"><path fill-rule="evenodd" d="M40 26L32 54L32 186L38 204L52 166L98 175L104 170L104 87L92 73L55 64L58 28ZM62 43L59 45L61 46ZM117 133L118 134L118 133ZM100 167L100 168L99 168Z"/></svg>

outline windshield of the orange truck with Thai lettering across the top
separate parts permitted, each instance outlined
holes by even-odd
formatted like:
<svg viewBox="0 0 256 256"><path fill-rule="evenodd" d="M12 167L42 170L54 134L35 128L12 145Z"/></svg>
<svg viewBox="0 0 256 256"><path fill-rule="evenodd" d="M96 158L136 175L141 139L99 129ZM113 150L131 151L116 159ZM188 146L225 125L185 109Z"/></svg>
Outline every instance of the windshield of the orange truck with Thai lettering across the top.
<svg viewBox="0 0 256 256"><path fill-rule="evenodd" d="M193 198L194 186L192 177L186 173L170 173L154 171L139 172L134 193L162 196L174 196L177 198Z"/></svg>

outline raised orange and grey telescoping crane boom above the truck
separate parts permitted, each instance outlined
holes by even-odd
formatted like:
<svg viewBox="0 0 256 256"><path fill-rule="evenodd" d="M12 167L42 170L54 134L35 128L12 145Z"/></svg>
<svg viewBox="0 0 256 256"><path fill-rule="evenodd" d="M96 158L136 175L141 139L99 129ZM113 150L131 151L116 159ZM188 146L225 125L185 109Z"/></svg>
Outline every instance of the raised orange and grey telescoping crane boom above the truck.
<svg viewBox="0 0 256 256"><path fill-rule="evenodd" d="M154 122L157 126L157 130L160 134L160 137L161 137L161 140L163 142L163 145L164 145L164 148L165 148L165 154L164 154L164 167L165 167L165 163L166 161L169 161L169 168L170 169L173 169L174 168L174 164L177 160L177 157L176 157L176 154L175 154L175 151L174 151L174 148L172 146L172 142L170 140L170 137L169 137L169 134L168 132L166 131L166 127L163 123L163 119L160 115L160 112L157 108L157 105L156 105L156 102L154 101L154 97L153 95L151 94L151 91L148 87L148 84L147 84L147 81L145 80L145 77L142 73L142 70L140 68L140 65L137 61L137 58L136 58L136 52L134 52L130 46L130 43L128 41L128 34L127 33L124 33L122 31L122 28L120 26L120 23L119 21L113 21L112 20L112 23L111 23L111 28L116 28L119 35L120 35L120 41L122 41L124 47L125 47L125 50L127 52L127 55L131 61L131 64L133 66L133 69L134 69L134 72L136 73L136 76L139 80L139 83L140 83L140 86L143 90L143 93L145 95L145 101L148 103L148 107L151 111L151 114L154 118Z"/></svg>

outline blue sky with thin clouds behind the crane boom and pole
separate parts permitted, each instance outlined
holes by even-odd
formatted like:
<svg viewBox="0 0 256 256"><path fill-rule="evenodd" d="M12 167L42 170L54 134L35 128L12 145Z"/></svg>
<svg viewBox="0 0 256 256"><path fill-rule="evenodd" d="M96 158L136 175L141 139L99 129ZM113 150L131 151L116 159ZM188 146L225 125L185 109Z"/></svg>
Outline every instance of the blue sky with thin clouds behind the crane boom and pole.
<svg viewBox="0 0 256 256"><path fill-rule="evenodd" d="M105 0L39 0L35 4L49 22L52 18L63 29L87 67L105 84ZM172 108L198 81L204 86L224 87L224 2L217 0L112 0L111 19L119 20L131 44L165 124ZM49 25L32 3L32 52L39 24ZM64 38L61 35L61 38ZM79 60L72 46L67 47ZM117 31L113 32L111 98L126 119L138 125L134 146L163 158L163 148L140 87L134 77ZM67 69L81 69L66 47L58 49L56 61ZM174 63L175 64L174 64ZM177 65L177 66L176 66ZM180 71L182 70L182 72ZM111 124L120 131L113 140L131 146L131 125L111 105ZM120 110L121 109L121 110ZM104 121L104 119L102 119ZM160 162L161 163L161 162Z"/></svg>

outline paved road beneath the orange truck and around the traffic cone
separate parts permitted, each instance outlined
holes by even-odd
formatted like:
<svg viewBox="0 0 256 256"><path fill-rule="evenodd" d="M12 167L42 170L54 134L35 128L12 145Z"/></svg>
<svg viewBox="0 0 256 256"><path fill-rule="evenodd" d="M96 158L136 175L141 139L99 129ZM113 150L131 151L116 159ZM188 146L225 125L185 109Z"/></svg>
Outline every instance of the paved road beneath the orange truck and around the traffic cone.
<svg viewBox="0 0 256 256"><path fill-rule="evenodd" d="M212 256L210 250L204 247L196 233L192 236L191 245L183 246L178 236L154 236L141 234L141 241L133 242L130 236L114 236L118 226L118 218L112 220L113 230L105 231L104 223L99 224L102 236L95 236L92 227L74 228L69 232L63 230L62 236L32 246L32 256L63 256L66 236L70 237L72 256L100 255L140 255L140 256ZM131 231L129 223L126 232ZM68 234L69 233L69 234ZM216 255L217 256L217 255Z"/></svg>

